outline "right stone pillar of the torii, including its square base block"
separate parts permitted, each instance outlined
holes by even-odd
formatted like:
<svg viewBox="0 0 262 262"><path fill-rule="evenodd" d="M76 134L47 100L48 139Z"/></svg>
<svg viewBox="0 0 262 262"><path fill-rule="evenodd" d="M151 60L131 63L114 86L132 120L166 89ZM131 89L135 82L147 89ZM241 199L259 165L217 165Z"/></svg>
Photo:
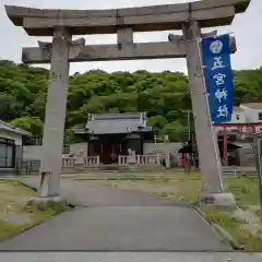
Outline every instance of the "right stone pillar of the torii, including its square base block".
<svg viewBox="0 0 262 262"><path fill-rule="evenodd" d="M217 136L211 123L202 55L199 45L201 28L196 21L189 21L183 24L182 31L202 174L202 193L199 198L199 203L202 207L231 209L236 206L236 201L231 193L223 192L223 175Z"/></svg>

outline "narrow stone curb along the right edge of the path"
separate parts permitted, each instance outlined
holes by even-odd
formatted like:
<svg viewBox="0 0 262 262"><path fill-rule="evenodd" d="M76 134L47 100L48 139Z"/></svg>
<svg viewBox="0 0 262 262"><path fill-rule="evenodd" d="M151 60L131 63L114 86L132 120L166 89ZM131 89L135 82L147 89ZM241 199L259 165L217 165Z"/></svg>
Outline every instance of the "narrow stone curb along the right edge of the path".
<svg viewBox="0 0 262 262"><path fill-rule="evenodd" d="M205 213L199 207L195 206L194 210L198 212L199 215L201 215L212 227L215 228L215 230L222 236L222 238L228 242L234 250L236 251L245 251L245 247L240 245L236 239L233 238L233 236L226 231L223 227L221 227L217 223L207 219L205 217Z"/></svg>

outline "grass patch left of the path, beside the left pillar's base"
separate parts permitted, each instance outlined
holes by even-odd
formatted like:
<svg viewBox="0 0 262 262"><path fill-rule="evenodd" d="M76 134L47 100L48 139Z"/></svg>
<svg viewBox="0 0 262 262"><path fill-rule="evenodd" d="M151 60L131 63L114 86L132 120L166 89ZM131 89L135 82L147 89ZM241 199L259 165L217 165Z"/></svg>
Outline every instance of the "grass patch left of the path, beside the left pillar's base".
<svg viewBox="0 0 262 262"><path fill-rule="evenodd" d="M34 195L36 192L24 187L19 180L0 180L0 240L63 212L52 207L45 211L26 210L27 200Z"/></svg>

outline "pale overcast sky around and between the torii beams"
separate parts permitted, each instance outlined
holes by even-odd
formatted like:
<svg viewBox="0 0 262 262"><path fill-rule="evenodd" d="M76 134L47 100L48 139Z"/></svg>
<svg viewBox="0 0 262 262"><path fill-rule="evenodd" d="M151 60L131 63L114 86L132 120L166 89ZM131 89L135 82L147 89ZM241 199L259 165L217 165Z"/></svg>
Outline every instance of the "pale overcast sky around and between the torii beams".
<svg viewBox="0 0 262 262"><path fill-rule="evenodd" d="M218 0L217 0L218 1ZM14 4L32 8L48 9L109 9L124 7L142 7L153 4L167 4L188 2L187 0L0 0L0 58L21 62L22 47L36 46L37 38L27 36L22 27L15 27L5 15L4 4ZM238 51L233 55L234 69L253 69L262 66L262 0L251 0L248 11L238 14L230 26L218 28L218 33L234 33L237 39ZM134 35L135 41L167 40L168 32L139 33ZM87 44L115 44L116 35L85 36ZM39 39L39 38L38 38ZM43 39L43 38L41 38ZM47 38L44 38L47 39ZM85 72L91 69L105 71L136 71L148 70L160 72L164 70L186 70L184 59L158 59L114 62L84 62L71 63L71 73Z"/></svg>

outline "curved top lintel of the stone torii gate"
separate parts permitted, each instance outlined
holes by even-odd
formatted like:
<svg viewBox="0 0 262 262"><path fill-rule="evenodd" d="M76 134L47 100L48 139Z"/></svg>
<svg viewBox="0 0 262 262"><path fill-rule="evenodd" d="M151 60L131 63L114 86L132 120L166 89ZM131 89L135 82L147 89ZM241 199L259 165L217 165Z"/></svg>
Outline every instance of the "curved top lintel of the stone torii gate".
<svg viewBox="0 0 262 262"><path fill-rule="evenodd" d="M183 22L199 21L201 27L228 25L236 13L247 10L251 0L201 0L109 10L51 10L5 5L9 19L28 35L51 36L66 26L72 35L115 34L120 27L134 32L180 29Z"/></svg>

